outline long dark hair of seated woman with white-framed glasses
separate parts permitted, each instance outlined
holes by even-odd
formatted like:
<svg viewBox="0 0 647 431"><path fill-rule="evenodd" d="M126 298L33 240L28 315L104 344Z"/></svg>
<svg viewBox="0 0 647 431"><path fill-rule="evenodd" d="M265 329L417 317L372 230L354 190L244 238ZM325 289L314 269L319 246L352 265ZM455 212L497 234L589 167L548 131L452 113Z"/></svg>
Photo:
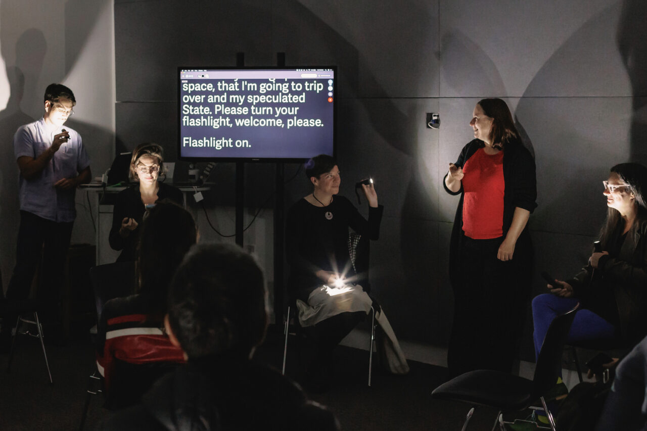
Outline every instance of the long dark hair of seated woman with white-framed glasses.
<svg viewBox="0 0 647 431"><path fill-rule="evenodd" d="M622 192L633 193L635 197L636 219L632 229L638 228L642 221L647 220L647 196L645 195L647 192L647 168L639 163L620 163L613 166L611 172L617 173L620 179L629 185ZM621 221L620 212L615 208L608 208L606 221L600 230L600 243L602 243L603 250L608 249L613 232L623 227L620 225Z"/></svg>

